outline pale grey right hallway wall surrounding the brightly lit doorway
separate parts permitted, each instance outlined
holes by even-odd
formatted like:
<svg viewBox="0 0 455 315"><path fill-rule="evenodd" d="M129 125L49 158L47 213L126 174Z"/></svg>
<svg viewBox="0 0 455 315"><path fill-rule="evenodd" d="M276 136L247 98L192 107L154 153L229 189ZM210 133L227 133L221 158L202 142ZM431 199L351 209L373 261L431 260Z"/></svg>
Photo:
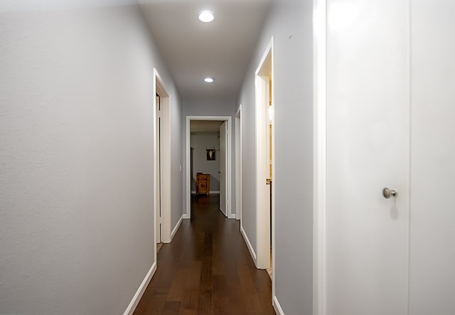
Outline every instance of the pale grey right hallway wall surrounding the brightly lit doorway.
<svg viewBox="0 0 455 315"><path fill-rule="evenodd" d="M256 249L255 70L274 36L275 295L284 314L312 314L313 1L274 1L238 103L242 104L242 226Z"/></svg>

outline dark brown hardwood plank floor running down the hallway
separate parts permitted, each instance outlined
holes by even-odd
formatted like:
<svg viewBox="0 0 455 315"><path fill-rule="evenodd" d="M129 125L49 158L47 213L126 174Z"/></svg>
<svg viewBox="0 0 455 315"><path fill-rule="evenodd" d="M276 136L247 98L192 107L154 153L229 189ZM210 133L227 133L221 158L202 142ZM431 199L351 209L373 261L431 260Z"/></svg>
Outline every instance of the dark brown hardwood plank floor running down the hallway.
<svg viewBox="0 0 455 315"><path fill-rule="evenodd" d="M218 210L219 196L192 198L134 314L275 314L269 275L258 270L240 235L240 222Z"/></svg>

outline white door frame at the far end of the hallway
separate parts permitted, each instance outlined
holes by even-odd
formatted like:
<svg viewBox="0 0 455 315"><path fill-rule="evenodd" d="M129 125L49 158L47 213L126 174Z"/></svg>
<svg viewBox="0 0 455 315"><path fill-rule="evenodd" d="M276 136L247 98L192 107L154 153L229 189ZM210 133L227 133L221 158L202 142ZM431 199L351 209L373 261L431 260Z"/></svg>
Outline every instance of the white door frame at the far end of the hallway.
<svg viewBox="0 0 455 315"><path fill-rule="evenodd" d="M235 215L232 215L231 209L231 188L232 188L232 117L230 116L186 116L186 213L183 214L184 219L191 218L191 165L190 165L190 150L191 150L191 131L190 123L191 120L219 120L227 122L228 129L228 142L226 143L226 166L228 173L226 174L226 213L228 218L233 219Z"/></svg>

